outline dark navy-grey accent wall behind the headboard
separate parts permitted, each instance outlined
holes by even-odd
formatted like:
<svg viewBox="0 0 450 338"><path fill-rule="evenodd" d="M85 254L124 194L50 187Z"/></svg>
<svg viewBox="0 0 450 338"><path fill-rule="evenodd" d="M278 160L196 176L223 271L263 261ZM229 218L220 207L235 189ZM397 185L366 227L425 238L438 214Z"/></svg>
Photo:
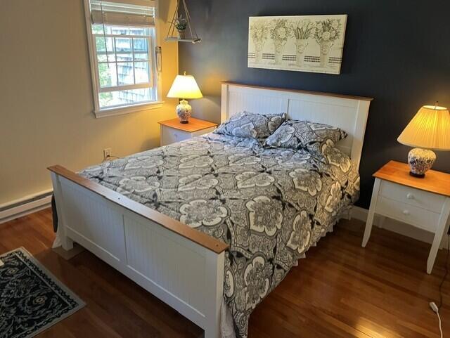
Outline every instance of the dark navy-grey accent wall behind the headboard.
<svg viewBox="0 0 450 338"><path fill-rule="evenodd" d="M361 162L361 207L368 207L371 175L389 160L406 162L397 136L421 105L450 106L450 1L424 0L188 0L200 44L180 44L179 67L207 96L198 117L219 117L219 81L329 91L375 98ZM342 74L247 67L248 17L348 14ZM205 108L205 109L202 109ZM449 152L435 169L450 171Z"/></svg>

